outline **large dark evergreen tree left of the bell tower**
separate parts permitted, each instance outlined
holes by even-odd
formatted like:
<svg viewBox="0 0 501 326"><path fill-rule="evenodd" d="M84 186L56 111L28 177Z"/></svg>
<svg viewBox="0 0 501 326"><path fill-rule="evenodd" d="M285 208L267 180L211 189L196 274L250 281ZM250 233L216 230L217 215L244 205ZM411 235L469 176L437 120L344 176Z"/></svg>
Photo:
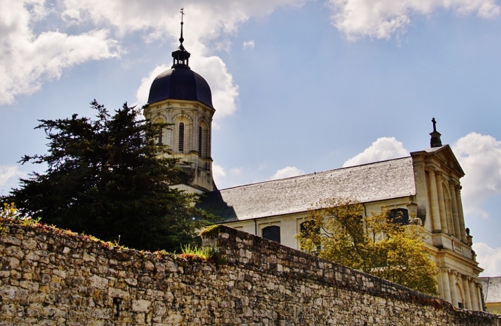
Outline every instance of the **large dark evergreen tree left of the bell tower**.
<svg viewBox="0 0 501 326"><path fill-rule="evenodd" d="M48 153L20 162L47 164L21 179L4 201L43 223L92 234L137 249L179 250L207 222L192 195L170 188L185 175L169 149L156 142L167 124L140 118L124 104L113 115L95 100L95 119L40 120Z"/></svg>

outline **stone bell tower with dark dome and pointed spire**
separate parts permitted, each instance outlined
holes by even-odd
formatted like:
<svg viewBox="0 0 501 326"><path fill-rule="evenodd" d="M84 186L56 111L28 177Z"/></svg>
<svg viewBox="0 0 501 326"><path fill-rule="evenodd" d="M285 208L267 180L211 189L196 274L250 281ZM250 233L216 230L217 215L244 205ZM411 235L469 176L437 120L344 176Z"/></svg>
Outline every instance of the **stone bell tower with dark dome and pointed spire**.
<svg viewBox="0 0 501 326"><path fill-rule="evenodd" d="M211 158L215 109L209 84L189 68L190 53L183 46L183 15L181 9L180 45L172 52L172 68L154 79L144 116L153 123L172 124L163 130L158 141L170 147L189 177L174 187L202 193L215 190Z"/></svg>

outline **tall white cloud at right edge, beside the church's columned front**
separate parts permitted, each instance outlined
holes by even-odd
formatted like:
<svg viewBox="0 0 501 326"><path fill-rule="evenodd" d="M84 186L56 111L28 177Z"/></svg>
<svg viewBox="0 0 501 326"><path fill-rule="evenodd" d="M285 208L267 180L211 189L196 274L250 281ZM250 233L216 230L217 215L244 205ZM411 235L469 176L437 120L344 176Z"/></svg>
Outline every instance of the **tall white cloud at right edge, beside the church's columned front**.
<svg viewBox="0 0 501 326"><path fill-rule="evenodd" d="M471 132L452 145L456 158L465 171L461 179L463 208L466 214L489 216L482 203L501 194L501 141Z"/></svg>

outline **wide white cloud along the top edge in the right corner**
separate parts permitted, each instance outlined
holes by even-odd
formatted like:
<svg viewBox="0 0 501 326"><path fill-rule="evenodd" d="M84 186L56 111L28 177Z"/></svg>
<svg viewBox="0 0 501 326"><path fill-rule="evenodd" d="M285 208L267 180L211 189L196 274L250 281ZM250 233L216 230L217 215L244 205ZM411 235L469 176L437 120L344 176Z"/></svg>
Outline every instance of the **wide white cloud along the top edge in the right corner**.
<svg viewBox="0 0 501 326"><path fill-rule="evenodd" d="M413 16L428 16L438 10L476 14L491 18L500 14L496 0L329 0L333 24L349 40L369 36L390 38L404 32Z"/></svg>

